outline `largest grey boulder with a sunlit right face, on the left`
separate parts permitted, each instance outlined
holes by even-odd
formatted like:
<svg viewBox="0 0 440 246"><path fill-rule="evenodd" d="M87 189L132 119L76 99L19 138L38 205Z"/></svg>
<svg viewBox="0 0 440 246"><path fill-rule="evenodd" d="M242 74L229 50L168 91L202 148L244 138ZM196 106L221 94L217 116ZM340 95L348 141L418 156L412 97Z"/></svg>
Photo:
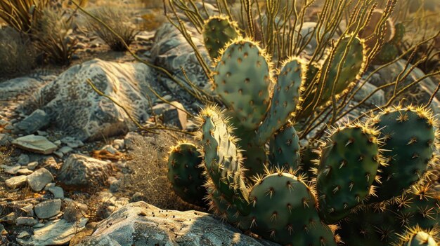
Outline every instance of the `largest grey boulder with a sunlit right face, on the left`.
<svg viewBox="0 0 440 246"><path fill-rule="evenodd" d="M128 132L136 126L124 110L111 100L101 97L87 83L127 107L137 121L149 118L149 102L145 94L156 81L155 71L143 63L117 63L99 59L77 64L41 88L46 111L53 126L65 136L93 141ZM27 104L22 106L26 111Z"/></svg>

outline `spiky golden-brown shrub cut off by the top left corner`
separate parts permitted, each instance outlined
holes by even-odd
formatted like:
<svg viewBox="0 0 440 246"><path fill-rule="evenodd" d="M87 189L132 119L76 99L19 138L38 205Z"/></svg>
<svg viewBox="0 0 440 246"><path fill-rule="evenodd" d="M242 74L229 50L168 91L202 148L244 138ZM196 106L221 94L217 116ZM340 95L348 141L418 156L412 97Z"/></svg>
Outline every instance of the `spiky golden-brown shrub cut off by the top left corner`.
<svg viewBox="0 0 440 246"><path fill-rule="evenodd" d="M1 0L0 18L20 32L29 32L48 0Z"/></svg>

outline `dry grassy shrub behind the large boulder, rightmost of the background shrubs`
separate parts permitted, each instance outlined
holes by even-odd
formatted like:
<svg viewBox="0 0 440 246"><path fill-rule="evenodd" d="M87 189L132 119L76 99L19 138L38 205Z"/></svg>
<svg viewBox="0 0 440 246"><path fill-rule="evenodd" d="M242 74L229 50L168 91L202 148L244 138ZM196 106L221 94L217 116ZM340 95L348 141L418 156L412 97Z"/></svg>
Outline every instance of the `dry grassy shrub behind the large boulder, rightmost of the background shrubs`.
<svg viewBox="0 0 440 246"><path fill-rule="evenodd" d="M91 32L98 35L112 50L124 51L127 48L124 46L119 37L129 46L134 41L134 36L138 33L136 27L130 21L127 11L120 8L102 7L91 11L91 14L105 23L115 33L110 32L100 22L93 18L89 18L88 26ZM116 35L117 34L117 35ZM119 37L118 37L119 36Z"/></svg>

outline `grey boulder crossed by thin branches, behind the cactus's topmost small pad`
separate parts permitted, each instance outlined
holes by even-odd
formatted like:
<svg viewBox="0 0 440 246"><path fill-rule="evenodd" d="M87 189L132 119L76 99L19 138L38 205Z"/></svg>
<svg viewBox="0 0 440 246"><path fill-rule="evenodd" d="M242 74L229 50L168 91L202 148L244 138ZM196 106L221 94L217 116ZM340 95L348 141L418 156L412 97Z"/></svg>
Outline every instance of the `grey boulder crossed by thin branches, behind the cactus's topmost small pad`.
<svg viewBox="0 0 440 246"><path fill-rule="evenodd" d="M209 66L210 60L205 46L202 43L202 36L191 27L188 28L188 32L190 32L195 46L200 51L202 57L205 57L205 62L207 62ZM150 53L156 65L167 69L167 71L176 76L180 81L186 81L181 71L181 67L183 67L190 81L196 86L203 88L207 84L207 76L200 66L193 48L173 25L165 23L157 29ZM183 88L180 88L167 76L159 75L158 79L169 91L174 93L174 95L179 95L179 97L183 97L189 101L195 100L193 96L187 93ZM189 86L188 89L190 89Z"/></svg>

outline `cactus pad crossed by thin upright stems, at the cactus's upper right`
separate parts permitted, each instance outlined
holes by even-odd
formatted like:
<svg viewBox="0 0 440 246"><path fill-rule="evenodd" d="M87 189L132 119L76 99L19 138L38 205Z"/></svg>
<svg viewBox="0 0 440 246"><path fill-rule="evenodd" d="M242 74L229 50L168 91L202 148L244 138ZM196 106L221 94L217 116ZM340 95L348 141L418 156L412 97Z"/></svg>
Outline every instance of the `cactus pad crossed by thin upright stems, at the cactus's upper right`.
<svg viewBox="0 0 440 246"><path fill-rule="evenodd" d="M328 102L332 98L332 92L338 95L347 90L363 74L366 58L363 40L354 36L340 39L325 59L315 88L306 95L301 116L304 118L312 114L314 105L319 107Z"/></svg>

